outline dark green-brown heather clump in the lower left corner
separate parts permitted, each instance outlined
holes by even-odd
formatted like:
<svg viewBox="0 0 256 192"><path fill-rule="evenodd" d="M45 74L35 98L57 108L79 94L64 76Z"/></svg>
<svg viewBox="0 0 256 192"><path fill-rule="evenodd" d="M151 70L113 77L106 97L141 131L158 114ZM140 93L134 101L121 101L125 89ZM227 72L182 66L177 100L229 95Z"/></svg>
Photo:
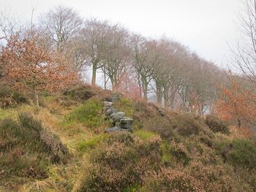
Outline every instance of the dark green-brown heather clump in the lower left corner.
<svg viewBox="0 0 256 192"><path fill-rule="evenodd" d="M5 119L1 121L0 132L0 169L5 179L48 177L49 161L42 153L36 131L24 128L14 120Z"/></svg>

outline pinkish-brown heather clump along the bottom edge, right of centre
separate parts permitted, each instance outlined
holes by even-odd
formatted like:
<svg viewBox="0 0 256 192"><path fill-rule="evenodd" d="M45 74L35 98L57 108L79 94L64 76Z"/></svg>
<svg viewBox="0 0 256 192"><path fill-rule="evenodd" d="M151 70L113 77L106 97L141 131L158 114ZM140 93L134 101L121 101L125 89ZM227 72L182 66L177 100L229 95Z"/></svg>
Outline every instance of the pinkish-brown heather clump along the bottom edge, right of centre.
<svg viewBox="0 0 256 192"><path fill-rule="evenodd" d="M223 165L193 161L186 167L148 172L140 191L244 191L247 186L238 184L233 177Z"/></svg>

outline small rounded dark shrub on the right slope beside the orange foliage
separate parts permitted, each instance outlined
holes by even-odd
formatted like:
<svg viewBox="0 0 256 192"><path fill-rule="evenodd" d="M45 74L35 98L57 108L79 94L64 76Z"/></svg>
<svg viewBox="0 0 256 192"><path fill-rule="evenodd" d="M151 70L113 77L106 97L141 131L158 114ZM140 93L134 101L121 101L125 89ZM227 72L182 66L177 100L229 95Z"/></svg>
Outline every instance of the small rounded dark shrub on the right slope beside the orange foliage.
<svg viewBox="0 0 256 192"><path fill-rule="evenodd" d="M214 133L217 133L217 132L221 132L222 134L229 133L227 123L225 123L224 121L220 120L219 118L213 115L206 116L206 124L209 128L211 128L211 131L214 131Z"/></svg>

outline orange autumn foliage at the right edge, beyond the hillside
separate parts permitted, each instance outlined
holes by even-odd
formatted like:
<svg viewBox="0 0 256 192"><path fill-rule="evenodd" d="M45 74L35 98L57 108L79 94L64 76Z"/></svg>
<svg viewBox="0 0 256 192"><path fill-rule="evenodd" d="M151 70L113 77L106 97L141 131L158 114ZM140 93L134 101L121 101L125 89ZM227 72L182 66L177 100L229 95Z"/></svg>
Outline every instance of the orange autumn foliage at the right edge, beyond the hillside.
<svg viewBox="0 0 256 192"><path fill-rule="evenodd" d="M230 86L222 88L222 97L217 101L217 113L225 120L238 121L238 127L256 121L256 96L252 90L231 80Z"/></svg>

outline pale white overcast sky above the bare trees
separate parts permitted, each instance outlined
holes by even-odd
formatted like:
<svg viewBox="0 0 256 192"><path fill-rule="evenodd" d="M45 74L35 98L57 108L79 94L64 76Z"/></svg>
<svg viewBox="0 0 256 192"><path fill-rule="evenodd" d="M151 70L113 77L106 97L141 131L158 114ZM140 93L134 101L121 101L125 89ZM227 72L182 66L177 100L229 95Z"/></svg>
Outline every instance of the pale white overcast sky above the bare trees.
<svg viewBox="0 0 256 192"><path fill-rule="evenodd" d="M227 42L236 37L242 0L0 0L0 11L34 20L59 4L76 9L83 18L121 23L145 37L178 40L198 55L226 66Z"/></svg>

